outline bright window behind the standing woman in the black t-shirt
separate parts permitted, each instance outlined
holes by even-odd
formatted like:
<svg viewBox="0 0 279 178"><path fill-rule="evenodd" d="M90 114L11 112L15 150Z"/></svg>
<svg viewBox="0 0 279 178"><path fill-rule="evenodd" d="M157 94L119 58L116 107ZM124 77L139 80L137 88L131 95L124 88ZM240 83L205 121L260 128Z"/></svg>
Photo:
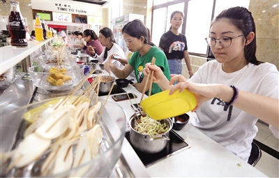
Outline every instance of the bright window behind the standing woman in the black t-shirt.
<svg viewBox="0 0 279 178"><path fill-rule="evenodd" d="M215 1L215 4L213 3ZM170 15L174 10L185 13L184 24L179 31L186 35L188 52L206 56L211 20L222 10L234 6L249 7L250 0L153 0L152 40L159 44L160 36L169 30ZM184 9L184 7L186 9ZM214 12L214 13L213 13Z"/></svg>

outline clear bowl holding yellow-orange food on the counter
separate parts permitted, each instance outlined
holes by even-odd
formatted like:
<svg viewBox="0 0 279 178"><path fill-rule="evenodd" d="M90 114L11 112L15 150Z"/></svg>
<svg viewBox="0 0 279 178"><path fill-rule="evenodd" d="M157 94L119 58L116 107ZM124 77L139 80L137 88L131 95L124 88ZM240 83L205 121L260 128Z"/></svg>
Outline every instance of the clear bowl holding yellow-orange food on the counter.
<svg viewBox="0 0 279 178"><path fill-rule="evenodd" d="M33 66L29 68L33 84L47 91L66 91L73 89L84 77L84 66L78 64L73 66L61 64L59 67L66 68L66 72L52 71L52 73L50 73L51 68L58 68L56 65L57 64L46 64L45 66Z"/></svg>

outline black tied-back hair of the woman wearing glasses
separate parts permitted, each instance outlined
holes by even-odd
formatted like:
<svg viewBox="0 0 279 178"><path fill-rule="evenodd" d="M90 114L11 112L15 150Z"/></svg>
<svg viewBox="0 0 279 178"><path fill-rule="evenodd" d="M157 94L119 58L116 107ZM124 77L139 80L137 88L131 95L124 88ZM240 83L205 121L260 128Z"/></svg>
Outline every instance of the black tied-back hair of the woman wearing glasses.
<svg viewBox="0 0 279 178"><path fill-rule="evenodd" d="M252 13L243 7L234 7L228 8L227 10L223 10L215 20L211 23L211 26L214 22L227 19L229 22L232 22L236 26L237 29L241 30L245 36L245 38L250 34L250 32L254 32L255 38L251 41L250 44L244 47L244 57L248 63L252 63L255 65L262 64L262 61L257 61L256 57L256 27L254 18L252 17Z"/></svg>

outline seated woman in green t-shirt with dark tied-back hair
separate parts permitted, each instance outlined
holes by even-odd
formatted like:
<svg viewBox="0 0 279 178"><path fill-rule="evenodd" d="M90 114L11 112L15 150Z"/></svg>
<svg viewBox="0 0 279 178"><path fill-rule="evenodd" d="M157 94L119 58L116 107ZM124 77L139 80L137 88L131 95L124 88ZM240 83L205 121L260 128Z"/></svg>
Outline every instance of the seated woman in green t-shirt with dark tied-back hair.
<svg viewBox="0 0 279 178"><path fill-rule="evenodd" d="M128 22L122 29L123 38L126 42L126 47L131 52L134 52L131 59L128 61L128 64L122 69L119 70L114 66L114 64L106 63L105 70L118 78L126 78L130 73L135 71L135 77L137 82L135 82L135 88L140 91L148 94L148 87L146 91L144 90L144 84L146 83L146 77L142 72L146 63L151 63L152 58L156 58L156 66L160 66L164 75L170 80L169 65L167 64L167 57L165 53L151 43L149 39L148 31L145 25L140 20L133 20ZM149 86L149 84L147 85ZM158 84L152 84L152 94L157 94L162 91Z"/></svg>

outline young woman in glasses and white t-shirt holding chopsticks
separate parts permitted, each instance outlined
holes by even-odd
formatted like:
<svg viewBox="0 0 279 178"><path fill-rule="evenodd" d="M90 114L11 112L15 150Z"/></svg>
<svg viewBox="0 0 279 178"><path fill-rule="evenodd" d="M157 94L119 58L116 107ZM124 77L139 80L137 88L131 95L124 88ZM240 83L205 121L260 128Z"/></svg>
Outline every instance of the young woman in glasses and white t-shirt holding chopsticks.
<svg viewBox="0 0 279 178"><path fill-rule="evenodd" d="M278 70L273 64L257 61L255 22L246 8L234 7L223 10L211 22L206 42L211 46L216 60L201 66L189 81L231 86L234 89L234 96L230 101L214 96L202 103L196 110L197 117L191 119L190 124L244 161L248 161L251 143L258 131L255 124L259 116L248 114L247 110L243 111L242 107L234 105L234 101L239 91L278 100ZM169 85L169 81L160 70L150 64L146 65L144 75L149 73L150 69L156 70L153 82L158 83L163 90L186 86L186 78L181 75L172 75L170 84L179 81L177 86ZM264 104L264 101L262 102ZM255 107L254 110L259 108Z"/></svg>

